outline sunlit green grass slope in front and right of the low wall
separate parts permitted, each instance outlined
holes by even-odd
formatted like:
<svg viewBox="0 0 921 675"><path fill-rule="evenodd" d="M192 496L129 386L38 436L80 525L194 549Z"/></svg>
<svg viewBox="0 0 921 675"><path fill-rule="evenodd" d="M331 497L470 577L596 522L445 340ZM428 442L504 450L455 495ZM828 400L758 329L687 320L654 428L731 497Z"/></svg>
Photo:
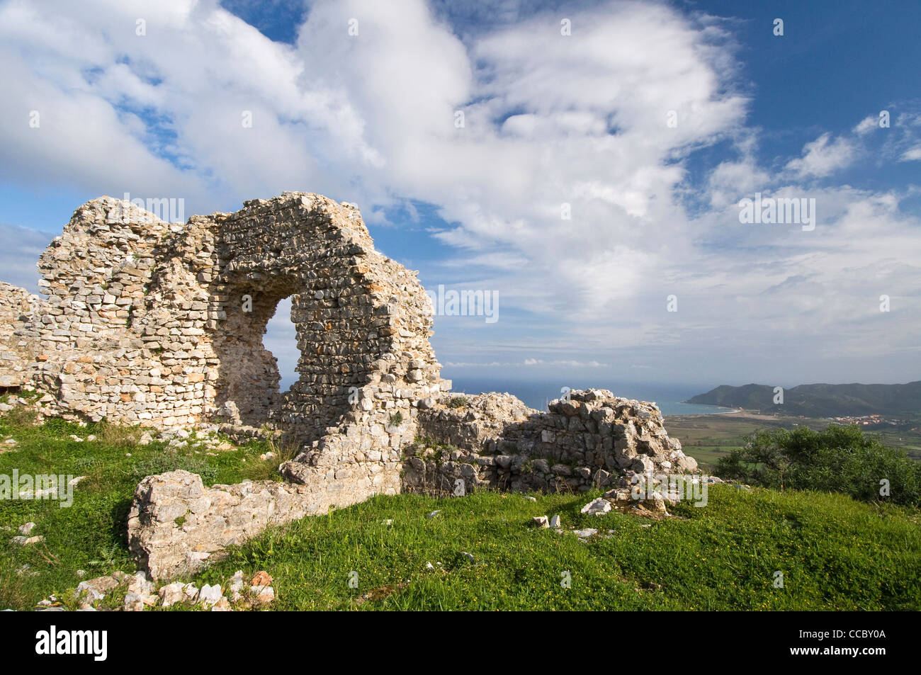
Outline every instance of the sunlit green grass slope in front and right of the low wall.
<svg viewBox="0 0 921 675"><path fill-rule="evenodd" d="M267 531L200 578L264 569L274 610L921 609L914 510L715 486L708 506L648 521L581 515L593 496L379 496ZM583 543L530 527L553 514L612 536Z"/></svg>

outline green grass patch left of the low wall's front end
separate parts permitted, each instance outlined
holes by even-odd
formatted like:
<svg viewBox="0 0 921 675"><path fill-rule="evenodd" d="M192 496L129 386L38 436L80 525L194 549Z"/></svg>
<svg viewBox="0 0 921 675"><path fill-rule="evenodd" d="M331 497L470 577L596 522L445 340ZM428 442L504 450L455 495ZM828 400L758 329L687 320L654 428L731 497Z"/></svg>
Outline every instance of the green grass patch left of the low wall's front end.
<svg viewBox="0 0 921 675"><path fill-rule="evenodd" d="M127 547L128 510L137 483L146 475L185 469L202 475L204 483L239 483L277 474L278 455L270 461L259 456L272 450L265 441L236 450L167 448L163 442L137 445L143 430L89 423L81 426L48 420L33 426L34 413L21 406L0 415L0 474L71 474L87 476L74 488L73 506L63 508L52 500L0 500L0 609L30 609L50 594L74 588L83 578L115 570L133 573L134 560ZM78 442L71 435L95 441ZM12 449L3 441L15 438ZM31 536L44 541L29 546L10 543L17 528L36 523ZM6 528L6 530L4 529Z"/></svg>

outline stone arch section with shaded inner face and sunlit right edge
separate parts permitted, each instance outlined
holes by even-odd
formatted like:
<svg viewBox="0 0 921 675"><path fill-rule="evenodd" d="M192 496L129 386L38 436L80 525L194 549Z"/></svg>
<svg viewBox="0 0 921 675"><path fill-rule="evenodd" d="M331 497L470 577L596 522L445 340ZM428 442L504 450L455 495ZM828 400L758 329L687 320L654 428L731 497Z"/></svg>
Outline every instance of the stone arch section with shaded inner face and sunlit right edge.
<svg viewBox="0 0 921 675"><path fill-rule="evenodd" d="M218 215L216 225L221 260L208 293L224 302L206 334L218 361L217 413L236 408L241 424L267 422L312 443L379 404L408 419L437 388L425 292L374 250L356 209L286 193ZM300 358L297 382L278 393L262 334L283 297L292 298Z"/></svg>

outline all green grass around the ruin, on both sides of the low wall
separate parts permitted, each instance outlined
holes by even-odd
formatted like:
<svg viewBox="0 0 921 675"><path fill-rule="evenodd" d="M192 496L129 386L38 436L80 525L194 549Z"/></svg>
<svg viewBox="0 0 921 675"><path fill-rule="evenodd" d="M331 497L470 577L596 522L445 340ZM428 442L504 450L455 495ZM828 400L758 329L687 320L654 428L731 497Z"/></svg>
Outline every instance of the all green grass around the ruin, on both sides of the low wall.
<svg viewBox="0 0 921 675"><path fill-rule="evenodd" d="M77 442L71 434L98 438ZM70 508L0 501L0 528L10 529L0 530L0 609L63 598L81 580L77 570L83 578L134 572L125 523L145 475L183 468L208 484L235 483L277 476L282 459L259 460L273 449L268 442L209 456L162 442L137 445L137 429L60 420L31 426L21 411L0 415L0 448L9 436L17 446L0 454L0 474L17 469L87 480ZM717 485L704 508L675 507L679 518L580 514L597 495L533 495L536 502L491 491L378 496L266 530L184 580L226 587L238 569L265 570L274 576L276 611L921 609L917 509ZM554 514L566 528L613 531L581 542L530 526L531 518ZM31 534L45 541L10 543L28 521L37 524ZM778 571L783 588L775 588ZM570 588L562 584L566 574Z"/></svg>

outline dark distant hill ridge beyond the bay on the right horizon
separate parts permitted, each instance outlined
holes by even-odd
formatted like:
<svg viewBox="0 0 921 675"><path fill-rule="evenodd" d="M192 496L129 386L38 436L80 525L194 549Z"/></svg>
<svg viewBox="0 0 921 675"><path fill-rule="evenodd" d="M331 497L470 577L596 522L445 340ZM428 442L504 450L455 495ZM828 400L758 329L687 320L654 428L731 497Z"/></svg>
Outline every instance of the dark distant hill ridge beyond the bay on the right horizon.
<svg viewBox="0 0 921 675"><path fill-rule="evenodd" d="M801 384L784 390L783 405L775 405L773 386L724 384L686 403L806 417L867 414L921 417L921 380L907 384Z"/></svg>

